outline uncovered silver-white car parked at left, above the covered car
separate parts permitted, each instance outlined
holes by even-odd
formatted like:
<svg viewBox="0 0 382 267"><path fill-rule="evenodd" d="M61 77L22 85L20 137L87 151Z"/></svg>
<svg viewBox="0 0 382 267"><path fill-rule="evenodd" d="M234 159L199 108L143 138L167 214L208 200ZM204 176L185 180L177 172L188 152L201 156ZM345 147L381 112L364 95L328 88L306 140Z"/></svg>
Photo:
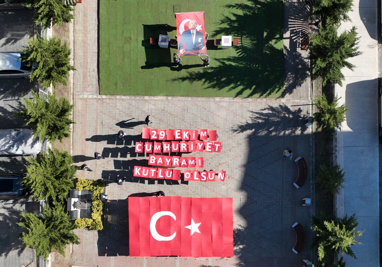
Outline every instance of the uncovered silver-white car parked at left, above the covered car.
<svg viewBox="0 0 382 267"><path fill-rule="evenodd" d="M0 78L28 78L31 67L21 62L17 52L0 52Z"/></svg>

